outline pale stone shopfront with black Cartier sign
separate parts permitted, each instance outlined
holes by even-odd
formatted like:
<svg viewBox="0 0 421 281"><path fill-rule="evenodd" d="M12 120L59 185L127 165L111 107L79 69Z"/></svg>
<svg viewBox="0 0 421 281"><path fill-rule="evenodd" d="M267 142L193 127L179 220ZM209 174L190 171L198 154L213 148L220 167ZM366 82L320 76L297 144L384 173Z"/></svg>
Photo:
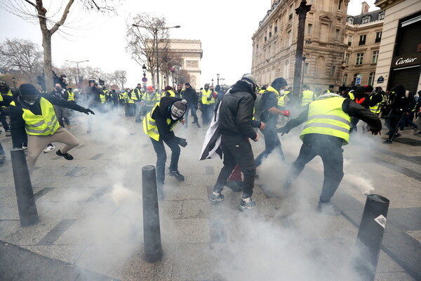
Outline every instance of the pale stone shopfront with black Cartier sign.
<svg viewBox="0 0 421 281"><path fill-rule="evenodd" d="M421 90L420 0L377 0L375 6L385 11L385 22L374 86L403 84L416 93Z"/></svg>

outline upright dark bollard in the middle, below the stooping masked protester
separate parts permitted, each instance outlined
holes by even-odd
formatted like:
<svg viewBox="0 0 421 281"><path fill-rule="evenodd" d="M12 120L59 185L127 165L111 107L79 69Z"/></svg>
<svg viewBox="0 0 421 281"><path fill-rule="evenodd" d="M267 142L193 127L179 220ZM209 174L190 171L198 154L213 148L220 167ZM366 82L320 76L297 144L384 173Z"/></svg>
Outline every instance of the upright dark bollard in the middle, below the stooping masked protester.
<svg viewBox="0 0 421 281"><path fill-rule="evenodd" d="M159 226L159 206L154 166L142 167L142 202L145 261L154 263L162 258L161 228Z"/></svg>

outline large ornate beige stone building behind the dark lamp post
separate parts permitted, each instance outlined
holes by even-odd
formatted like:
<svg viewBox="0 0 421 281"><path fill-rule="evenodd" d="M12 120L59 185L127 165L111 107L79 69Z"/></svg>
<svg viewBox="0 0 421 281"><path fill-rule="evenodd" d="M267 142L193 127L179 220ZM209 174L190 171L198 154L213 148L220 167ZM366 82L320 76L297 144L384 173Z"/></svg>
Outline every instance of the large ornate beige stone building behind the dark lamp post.
<svg viewBox="0 0 421 281"><path fill-rule="evenodd" d="M329 84L340 86L349 0L314 1L305 22L303 81L321 92ZM262 84L284 77L293 84L300 0L272 0L272 7L253 34L252 73ZM338 89L338 87L336 88Z"/></svg>

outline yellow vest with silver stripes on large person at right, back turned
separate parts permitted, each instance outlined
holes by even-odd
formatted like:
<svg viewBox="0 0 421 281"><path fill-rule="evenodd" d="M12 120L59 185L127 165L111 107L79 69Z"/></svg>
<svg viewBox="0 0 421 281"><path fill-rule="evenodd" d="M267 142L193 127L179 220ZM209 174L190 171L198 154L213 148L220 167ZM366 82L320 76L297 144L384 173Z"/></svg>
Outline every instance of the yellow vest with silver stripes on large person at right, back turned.
<svg viewBox="0 0 421 281"><path fill-rule="evenodd" d="M309 117L300 138L302 139L307 133L320 133L342 138L343 145L347 145L351 117L342 110L344 100L345 98L338 96L310 103Z"/></svg>

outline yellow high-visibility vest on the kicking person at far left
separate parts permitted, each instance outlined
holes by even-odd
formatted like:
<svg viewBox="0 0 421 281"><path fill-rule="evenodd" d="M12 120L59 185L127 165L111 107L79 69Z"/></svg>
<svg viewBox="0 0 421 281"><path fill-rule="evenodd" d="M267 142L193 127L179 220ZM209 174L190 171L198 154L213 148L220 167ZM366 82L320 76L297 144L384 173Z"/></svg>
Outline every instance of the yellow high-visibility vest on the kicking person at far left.
<svg viewBox="0 0 421 281"><path fill-rule="evenodd" d="M28 135L49 136L55 133L60 127L58 119L55 116L53 105L46 99L40 98L42 115L34 115L31 110L22 108L22 118L25 120L25 131ZM12 106L16 106L15 101L11 102Z"/></svg>

